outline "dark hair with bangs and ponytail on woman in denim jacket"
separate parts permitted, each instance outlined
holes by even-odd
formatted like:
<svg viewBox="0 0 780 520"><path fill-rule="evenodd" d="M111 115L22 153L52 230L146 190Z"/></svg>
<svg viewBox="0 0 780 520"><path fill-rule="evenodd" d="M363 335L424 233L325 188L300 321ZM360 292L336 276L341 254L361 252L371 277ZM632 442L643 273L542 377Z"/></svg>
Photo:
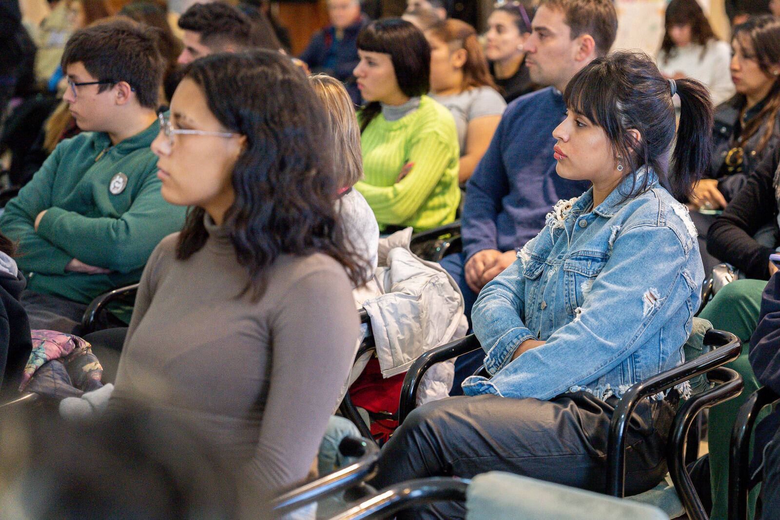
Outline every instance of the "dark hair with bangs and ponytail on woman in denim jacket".
<svg viewBox="0 0 780 520"><path fill-rule="evenodd" d="M674 93L682 105L676 141ZM627 163L624 177L651 167L675 199L684 200L710 167L713 109L707 88L696 79L665 79L643 52L615 51L591 61L569 81L564 100L604 128L615 156ZM640 133L639 141L631 129ZM647 190L648 182L647 175L635 176L626 199Z"/></svg>

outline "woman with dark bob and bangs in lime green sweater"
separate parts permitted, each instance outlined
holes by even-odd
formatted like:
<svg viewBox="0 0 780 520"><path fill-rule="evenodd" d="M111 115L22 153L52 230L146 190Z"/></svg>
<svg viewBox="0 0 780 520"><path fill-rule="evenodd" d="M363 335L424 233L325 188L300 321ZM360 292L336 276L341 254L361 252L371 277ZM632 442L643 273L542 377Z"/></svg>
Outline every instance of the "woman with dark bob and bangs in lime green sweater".
<svg viewBox="0 0 780 520"><path fill-rule="evenodd" d="M459 147L449 111L430 90L431 47L402 19L371 23L357 36L358 114L365 179L355 184L385 233L455 220Z"/></svg>

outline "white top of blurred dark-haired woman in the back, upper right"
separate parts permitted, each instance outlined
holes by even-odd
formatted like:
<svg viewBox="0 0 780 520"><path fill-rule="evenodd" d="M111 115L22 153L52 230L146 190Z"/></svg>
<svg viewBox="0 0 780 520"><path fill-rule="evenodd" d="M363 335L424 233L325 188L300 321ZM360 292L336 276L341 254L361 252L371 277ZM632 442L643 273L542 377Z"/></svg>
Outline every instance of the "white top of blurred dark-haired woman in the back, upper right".
<svg viewBox="0 0 780 520"><path fill-rule="evenodd" d="M668 61L665 61L665 57L664 51L658 53L658 69L661 72L666 76L682 72L685 76L698 79L710 90L712 103L716 107L736 93L729 72L731 47L725 41L710 40L706 49L699 44L672 47Z"/></svg>

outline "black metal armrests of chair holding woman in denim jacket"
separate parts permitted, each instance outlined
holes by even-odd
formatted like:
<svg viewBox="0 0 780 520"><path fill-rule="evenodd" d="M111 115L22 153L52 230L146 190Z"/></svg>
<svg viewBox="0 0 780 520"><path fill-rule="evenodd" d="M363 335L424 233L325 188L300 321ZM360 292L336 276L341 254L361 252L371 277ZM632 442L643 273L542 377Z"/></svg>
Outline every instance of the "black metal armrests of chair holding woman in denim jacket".
<svg viewBox="0 0 780 520"><path fill-rule="evenodd" d="M723 381L722 384L688 399L688 402L681 406L678 415L675 416L672 434L670 434L680 448L677 451L672 450L672 455L669 456L675 459L675 467L682 466L682 469L678 468L676 474L672 473L672 480L678 479L681 483L685 480L683 475L685 466L684 455L681 455L680 451L683 450L682 446L685 444L685 437L690 423L701 409L739 395L741 385L743 384L738 374L732 373L732 371L725 369L714 371L715 368L721 367L723 364L736 360L739 357L739 353L742 351L742 344L739 339L729 332L711 330L704 336L704 342L714 346L714 350L702 354L695 360L681 364L679 367L674 367L652 378L647 378L645 381L636 383L620 399L612 416L609 430L606 494L619 498L625 496L626 433L631 414L640 400L679 385L697 375L712 371L713 381ZM409 371L406 372L406 378L403 381L399 406L399 422L405 420L406 416L414 409L417 389L420 387L420 381L428 368L434 364L462 356L480 348L477 337L470 335L429 350L417 358ZM676 485L677 482L675 482ZM685 488L685 484L683 483L682 485ZM690 503L695 504L695 501L690 501ZM696 511L696 509L692 508L691 511Z"/></svg>

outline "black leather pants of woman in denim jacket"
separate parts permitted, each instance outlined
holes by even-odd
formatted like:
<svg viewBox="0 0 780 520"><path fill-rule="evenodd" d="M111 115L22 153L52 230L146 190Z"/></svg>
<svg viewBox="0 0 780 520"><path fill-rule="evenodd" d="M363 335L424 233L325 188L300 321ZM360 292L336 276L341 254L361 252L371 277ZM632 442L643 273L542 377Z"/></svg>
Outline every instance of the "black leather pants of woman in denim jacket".
<svg viewBox="0 0 780 520"><path fill-rule="evenodd" d="M415 409L382 448L377 489L427 476L470 478L505 471L603 492L609 422L618 399L587 392L550 401L496 395L450 397ZM641 402L631 418L626 495L656 486L667 472L674 417L666 401ZM463 504L440 503L398 518L463 518Z"/></svg>

